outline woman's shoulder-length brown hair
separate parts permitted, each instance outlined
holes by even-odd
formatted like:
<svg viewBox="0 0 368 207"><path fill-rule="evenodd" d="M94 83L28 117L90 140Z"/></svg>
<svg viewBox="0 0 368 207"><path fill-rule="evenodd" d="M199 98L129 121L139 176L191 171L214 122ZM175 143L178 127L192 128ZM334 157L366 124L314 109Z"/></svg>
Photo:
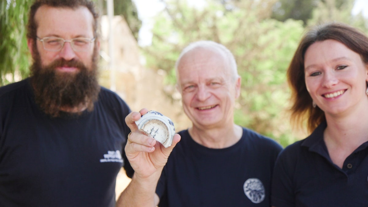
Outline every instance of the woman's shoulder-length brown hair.
<svg viewBox="0 0 368 207"><path fill-rule="evenodd" d="M330 22L309 30L301 39L287 70L287 79L291 88L291 124L301 127L307 119L307 129L312 132L326 120L324 112L312 107L312 98L305 86L304 55L313 43L333 39L343 43L358 53L364 63L368 63L368 38L360 30L349 25Z"/></svg>

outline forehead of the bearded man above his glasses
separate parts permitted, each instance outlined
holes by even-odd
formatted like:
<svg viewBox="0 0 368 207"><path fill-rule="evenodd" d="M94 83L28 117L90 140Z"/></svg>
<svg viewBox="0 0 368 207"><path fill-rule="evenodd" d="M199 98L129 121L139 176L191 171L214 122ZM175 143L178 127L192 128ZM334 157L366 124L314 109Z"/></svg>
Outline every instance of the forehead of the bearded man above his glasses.
<svg viewBox="0 0 368 207"><path fill-rule="evenodd" d="M87 7L41 6L35 14L37 35L64 38L93 35L93 16Z"/></svg>

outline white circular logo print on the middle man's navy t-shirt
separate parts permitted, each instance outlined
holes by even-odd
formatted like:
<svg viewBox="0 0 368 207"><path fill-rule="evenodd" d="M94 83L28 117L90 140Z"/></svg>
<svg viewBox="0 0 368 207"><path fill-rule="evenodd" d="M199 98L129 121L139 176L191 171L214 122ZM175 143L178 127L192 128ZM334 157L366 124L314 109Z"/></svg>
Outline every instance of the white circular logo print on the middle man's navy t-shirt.
<svg viewBox="0 0 368 207"><path fill-rule="evenodd" d="M249 178L244 183L244 193L253 203L265 200L265 187L258 178Z"/></svg>

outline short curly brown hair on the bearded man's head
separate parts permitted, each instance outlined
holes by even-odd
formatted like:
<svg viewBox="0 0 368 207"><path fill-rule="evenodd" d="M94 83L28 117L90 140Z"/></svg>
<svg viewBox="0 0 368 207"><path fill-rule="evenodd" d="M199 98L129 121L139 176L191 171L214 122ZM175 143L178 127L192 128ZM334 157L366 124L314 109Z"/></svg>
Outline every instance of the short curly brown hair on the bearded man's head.
<svg viewBox="0 0 368 207"><path fill-rule="evenodd" d="M93 22L93 35L98 38L97 25L98 25L98 13L95 9L95 4L89 0L35 0L31 6L28 16L27 24L27 38L36 39L37 22L35 21L35 14L39 7L47 5L50 7L66 7L66 8L78 8L80 6L85 6L91 12L94 22Z"/></svg>

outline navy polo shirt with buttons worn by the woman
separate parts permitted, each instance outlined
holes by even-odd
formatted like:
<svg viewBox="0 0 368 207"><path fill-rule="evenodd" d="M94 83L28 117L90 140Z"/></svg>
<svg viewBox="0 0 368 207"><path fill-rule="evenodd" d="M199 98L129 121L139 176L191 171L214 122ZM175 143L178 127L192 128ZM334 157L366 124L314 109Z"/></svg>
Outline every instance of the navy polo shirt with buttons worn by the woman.
<svg viewBox="0 0 368 207"><path fill-rule="evenodd" d="M286 147L273 172L272 206L368 206L368 142L333 164L323 141L327 124Z"/></svg>

